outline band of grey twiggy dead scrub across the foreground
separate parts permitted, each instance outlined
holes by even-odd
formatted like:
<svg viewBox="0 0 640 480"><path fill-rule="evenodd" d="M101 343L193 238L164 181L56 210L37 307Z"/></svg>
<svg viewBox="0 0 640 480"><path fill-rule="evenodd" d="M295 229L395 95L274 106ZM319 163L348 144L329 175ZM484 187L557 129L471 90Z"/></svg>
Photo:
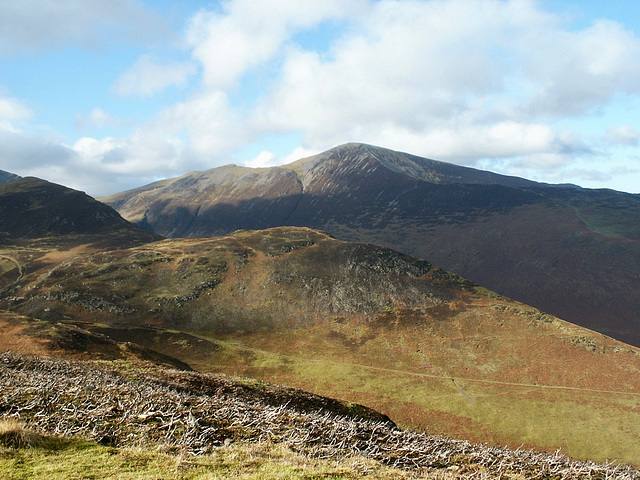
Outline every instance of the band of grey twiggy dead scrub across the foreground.
<svg viewBox="0 0 640 480"><path fill-rule="evenodd" d="M286 392L151 364L0 355L0 415L42 434L193 454L229 442L281 443L317 458L364 456L469 479L640 479L627 466L403 431L366 409L341 409L322 397L296 402Z"/></svg>

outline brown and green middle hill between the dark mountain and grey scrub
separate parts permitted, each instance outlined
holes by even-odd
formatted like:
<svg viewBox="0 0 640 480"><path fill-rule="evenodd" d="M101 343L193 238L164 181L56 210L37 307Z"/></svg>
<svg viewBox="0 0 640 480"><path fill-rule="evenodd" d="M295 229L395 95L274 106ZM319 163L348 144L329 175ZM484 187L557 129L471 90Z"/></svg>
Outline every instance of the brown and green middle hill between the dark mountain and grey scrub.
<svg viewBox="0 0 640 480"><path fill-rule="evenodd" d="M200 371L369 405L429 432L640 464L638 349L323 232L80 255L34 268L0 308Z"/></svg>

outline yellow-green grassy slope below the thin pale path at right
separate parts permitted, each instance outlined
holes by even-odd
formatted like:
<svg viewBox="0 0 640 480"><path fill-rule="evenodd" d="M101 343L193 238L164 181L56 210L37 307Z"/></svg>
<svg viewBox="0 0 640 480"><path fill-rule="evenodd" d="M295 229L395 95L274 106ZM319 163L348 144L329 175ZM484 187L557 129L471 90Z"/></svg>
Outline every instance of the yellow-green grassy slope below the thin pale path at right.
<svg viewBox="0 0 640 480"><path fill-rule="evenodd" d="M217 357L216 368L226 373L365 404L403 427L514 448L560 448L579 459L640 463L640 412L634 408L634 394L403 372L367 365L366 358L346 351L336 358L318 351L311 356L304 351L283 354L237 339L221 343L225 349L220 353L230 355Z"/></svg>

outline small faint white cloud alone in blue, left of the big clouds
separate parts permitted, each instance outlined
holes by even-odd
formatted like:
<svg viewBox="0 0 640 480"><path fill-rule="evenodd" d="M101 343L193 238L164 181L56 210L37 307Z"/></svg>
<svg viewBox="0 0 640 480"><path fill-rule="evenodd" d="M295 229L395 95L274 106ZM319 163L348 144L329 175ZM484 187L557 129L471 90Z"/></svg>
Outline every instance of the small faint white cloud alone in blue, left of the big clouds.
<svg viewBox="0 0 640 480"><path fill-rule="evenodd" d="M168 87L185 87L196 72L192 62L161 63L143 55L115 81L111 89L118 95L150 96Z"/></svg>

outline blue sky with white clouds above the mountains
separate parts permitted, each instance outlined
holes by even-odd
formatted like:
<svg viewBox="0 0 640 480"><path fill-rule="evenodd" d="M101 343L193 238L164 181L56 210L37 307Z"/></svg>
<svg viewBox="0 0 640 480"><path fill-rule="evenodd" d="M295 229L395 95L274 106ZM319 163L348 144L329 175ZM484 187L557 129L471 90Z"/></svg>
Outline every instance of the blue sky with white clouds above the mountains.
<svg viewBox="0 0 640 480"><path fill-rule="evenodd" d="M637 0L0 0L0 169L100 196L365 142L640 192Z"/></svg>

